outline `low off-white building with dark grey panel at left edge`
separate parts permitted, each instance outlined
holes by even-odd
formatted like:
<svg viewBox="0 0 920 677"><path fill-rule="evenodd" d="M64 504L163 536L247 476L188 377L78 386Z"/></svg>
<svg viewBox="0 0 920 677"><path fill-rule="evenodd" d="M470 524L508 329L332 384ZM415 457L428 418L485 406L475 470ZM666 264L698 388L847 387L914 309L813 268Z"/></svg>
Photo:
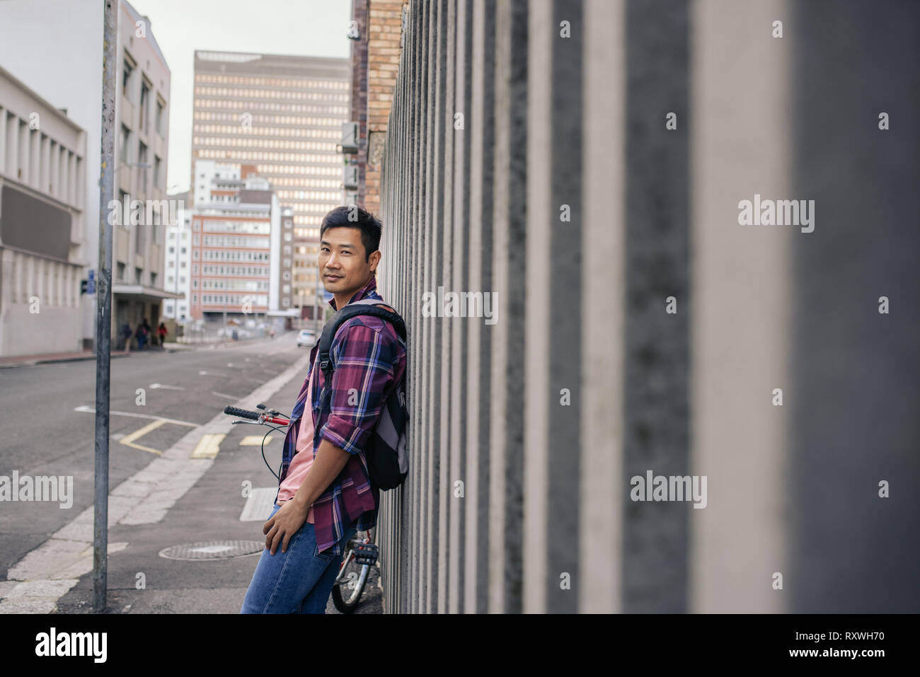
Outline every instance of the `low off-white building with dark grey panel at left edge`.
<svg viewBox="0 0 920 677"><path fill-rule="evenodd" d="M86 132L0 67L0 356L82 348Z"/></svg>

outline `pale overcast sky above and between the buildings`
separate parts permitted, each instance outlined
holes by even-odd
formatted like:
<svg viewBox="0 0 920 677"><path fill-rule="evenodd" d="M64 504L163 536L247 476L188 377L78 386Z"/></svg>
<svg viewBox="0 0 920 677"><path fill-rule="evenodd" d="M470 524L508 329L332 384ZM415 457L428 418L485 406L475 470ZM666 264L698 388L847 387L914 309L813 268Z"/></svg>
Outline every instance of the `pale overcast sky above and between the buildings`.
<svg viewBox="0 0 920 677"><path fill-rule="evenodd" d="M349 57L351 0L128 0L172 74L167 191L189 189L195 50Z"/></svg>

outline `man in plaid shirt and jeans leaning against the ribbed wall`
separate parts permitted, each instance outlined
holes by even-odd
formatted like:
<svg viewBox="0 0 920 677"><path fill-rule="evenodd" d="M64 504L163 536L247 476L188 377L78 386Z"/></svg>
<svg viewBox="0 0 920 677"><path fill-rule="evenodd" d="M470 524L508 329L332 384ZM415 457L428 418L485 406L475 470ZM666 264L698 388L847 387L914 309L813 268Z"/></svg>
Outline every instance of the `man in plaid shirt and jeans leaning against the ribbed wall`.
<svg viewBox="0 0 920 677"><path fill-rule="evenodd" d="M376 293L381 224L359 208L337 207L319 231L319 270L336 310ZM242 614L325 614L344 545L374 527L380 492L364 446L406 370L406 346L385 320L352 317L329 348L332 382L317 368L318 342L284 439L265 550ZM321 397L320 397L321 396ZM318 434L316 434L318 430Z"/></svg>

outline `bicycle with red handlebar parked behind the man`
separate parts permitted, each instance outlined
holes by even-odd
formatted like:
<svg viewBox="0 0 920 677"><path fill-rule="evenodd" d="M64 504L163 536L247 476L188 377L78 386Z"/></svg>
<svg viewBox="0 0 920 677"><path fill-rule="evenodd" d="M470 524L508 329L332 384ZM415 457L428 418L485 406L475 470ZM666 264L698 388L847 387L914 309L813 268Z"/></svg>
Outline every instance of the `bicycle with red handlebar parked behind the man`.
<svg viewBox="0 0 920 677"><path fill-rule="evenodd" d="M235 420L231 425L243 423L247 425L264 425L271 430L284 430L291 424L289 417L282 416L282 412L276 409L270 409L264 404L258 404L256 407L259 411L251 409L240 409L238 407L224 407L224 414L236 416L240 419ZM270 435L271 430L265 433L262 438L262 461L268 466L275 479L281 481L281 467L276 473L269 465L268 459L265 458L265 439ZM339 565L339 574L332 584L332 603L340 614L352 614L358 608L358 602L361 602L361 596L364 587L367 584L367 578L370 574L371 567L377 562L380 555L379 547L374 544L374 533L376 529L367 532L358 532L351 537L345 544L345 552L342 554L342 561ZM363 536L361 534L364 534Z"/></svg>

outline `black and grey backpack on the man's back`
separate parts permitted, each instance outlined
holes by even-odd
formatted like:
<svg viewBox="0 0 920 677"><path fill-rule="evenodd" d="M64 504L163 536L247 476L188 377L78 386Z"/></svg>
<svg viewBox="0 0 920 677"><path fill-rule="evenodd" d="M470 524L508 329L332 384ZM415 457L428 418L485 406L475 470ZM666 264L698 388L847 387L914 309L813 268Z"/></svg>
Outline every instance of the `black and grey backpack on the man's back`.
<svg viewBox="0 0 920 677"><path fill-rule="evenodd" d="M397 313L380 307L381 305L393 307L382 299L362 299L345 305L328 319L319 337L319 367L323 370L325 379L323 387L325 392L321 393L320 397L331 396L329 384L332 383L332 372L335 370L335 365L332 364L329 357L329 349L332 346L332 338L346 320L364 315L381 317L393 325L397 335L405 343L406 323L403 318ZM403 372L390 395L386 397L380 418L377 419L377 424L363 450L371 481L383 491L397 488L408 475L406 371Z"/></svg>

